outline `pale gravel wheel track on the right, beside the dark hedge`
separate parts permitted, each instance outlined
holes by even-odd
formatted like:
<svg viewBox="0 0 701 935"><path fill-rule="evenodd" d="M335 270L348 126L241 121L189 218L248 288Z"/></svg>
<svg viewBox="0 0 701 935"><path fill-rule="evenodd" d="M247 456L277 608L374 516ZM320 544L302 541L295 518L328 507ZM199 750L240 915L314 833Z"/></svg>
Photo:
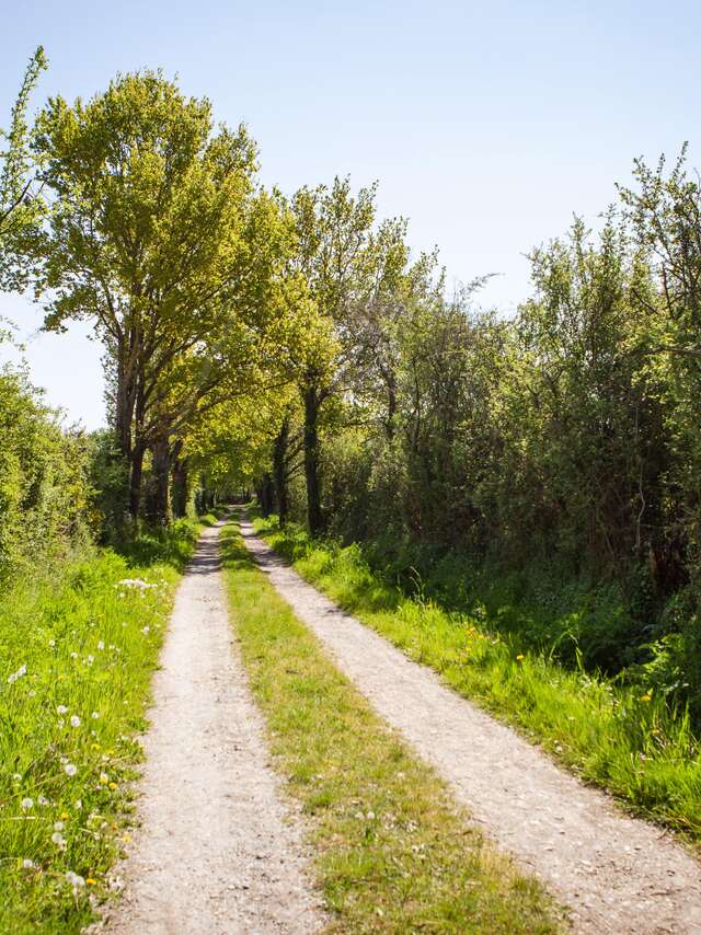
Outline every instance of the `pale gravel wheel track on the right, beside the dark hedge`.
<svg viewBox="0 0 701 935"><path fill-rule="evenodd" d="M582 933L701 933L701 867L446 688L306 584L243 522L272 582L338 667L451 784L486 833L571 908Z"/></svg>

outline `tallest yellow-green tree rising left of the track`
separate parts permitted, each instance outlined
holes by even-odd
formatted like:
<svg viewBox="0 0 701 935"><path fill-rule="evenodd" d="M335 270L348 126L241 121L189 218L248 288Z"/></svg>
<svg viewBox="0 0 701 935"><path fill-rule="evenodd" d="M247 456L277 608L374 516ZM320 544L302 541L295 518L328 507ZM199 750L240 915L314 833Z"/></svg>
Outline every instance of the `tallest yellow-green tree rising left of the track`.
<svg viewBox="0 0 701 935"><path fill-rule="evenodd" d="M214 132L208 101L145 71L87 104L51 99L34 146L53 197L34 245L45 327L92 321L104 343L136 517L162 374L206 338L245 275L254 145L243 127Z"/></svg>

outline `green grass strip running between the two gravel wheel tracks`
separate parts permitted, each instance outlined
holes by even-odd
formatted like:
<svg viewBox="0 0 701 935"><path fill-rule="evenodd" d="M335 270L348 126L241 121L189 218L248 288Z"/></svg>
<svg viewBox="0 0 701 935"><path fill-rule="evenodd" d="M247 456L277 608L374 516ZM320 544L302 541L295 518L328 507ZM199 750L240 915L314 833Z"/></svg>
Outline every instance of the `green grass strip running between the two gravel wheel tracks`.
<svg viewBox="0 0 701 935"><path fill-rule="evenodd" d="M333 932L545 933L559 913L494 852L222 536L233 624L276 763L309 820Z"/></svg>

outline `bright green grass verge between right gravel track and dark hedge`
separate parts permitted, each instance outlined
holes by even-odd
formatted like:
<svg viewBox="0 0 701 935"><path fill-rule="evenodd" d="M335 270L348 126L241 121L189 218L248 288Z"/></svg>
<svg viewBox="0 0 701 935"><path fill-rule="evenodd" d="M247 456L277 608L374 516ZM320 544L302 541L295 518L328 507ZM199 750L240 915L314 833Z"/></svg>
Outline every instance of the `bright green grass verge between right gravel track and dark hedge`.
<svg viewBox="0 0 701 935"><path fill-rule="evenodd" d="M521 728L583 778L637 813L701 842L701 749L689 718L644 689L570 671L519 651L489 620L406 597L357 546L312 542L275 519L257 531L309 581L460 694Z"/></svg>

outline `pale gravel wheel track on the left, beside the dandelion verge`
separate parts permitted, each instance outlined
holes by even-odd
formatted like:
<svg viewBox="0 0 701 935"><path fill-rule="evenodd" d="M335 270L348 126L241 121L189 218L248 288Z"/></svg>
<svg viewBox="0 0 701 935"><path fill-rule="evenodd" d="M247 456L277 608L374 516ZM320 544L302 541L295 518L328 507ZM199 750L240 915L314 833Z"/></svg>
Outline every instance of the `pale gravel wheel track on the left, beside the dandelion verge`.
<svg viewBox="0 0 701 935"><path fill-rule="evenodd" d="M321 926L297 830L277 794L219 572L202 536L157 672L141 831L119 869L118 935L311 933Z"/></svg>

